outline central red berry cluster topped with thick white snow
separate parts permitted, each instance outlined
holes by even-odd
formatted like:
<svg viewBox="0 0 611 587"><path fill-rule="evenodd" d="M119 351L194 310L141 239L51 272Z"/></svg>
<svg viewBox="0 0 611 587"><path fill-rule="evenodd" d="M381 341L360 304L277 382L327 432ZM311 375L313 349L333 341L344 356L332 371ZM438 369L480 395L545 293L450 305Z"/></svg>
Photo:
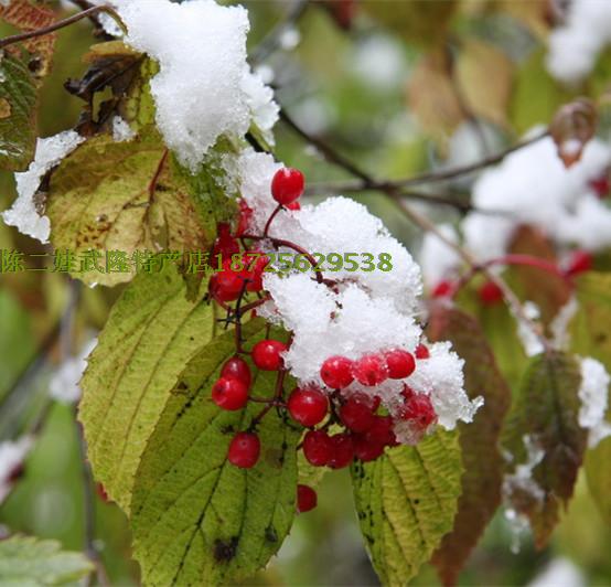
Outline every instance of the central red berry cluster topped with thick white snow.
<svg viewBox="0 0 611 587"><path fill-rule="evenodd" d="M292 206L303 177L268 154L246 149L226 163L239 184L239 217L233 234L219 230L215 247L227 247L235 260L238 243L237 258L257 253L262 262L248 269L224 262L211 279L211 297L234 322L246 305L290 333L288 341L268 335L249 349L237 344L236 356L221 370L213 399L225 409L242 409L250 399L250 367L242 353L256 369L277 372L275 389L262 398L255 394L267 405L234 438L229 461L256 465L256 430L272 407L290 415L287 425L309 428L300 444L306 459L332 469L374 460L398 444L417 444L436 425L451 429L458 420L470 421L482 402L464 393L462 361L450 344L424 339L416 320L419 268L379 220L344 198ZM317 271L308 260L309 271L288 267L280 274L270 260L281 253L308 259L312 250L386 253L393 269ZM297 380L290 393L287 374Z"/></svg>

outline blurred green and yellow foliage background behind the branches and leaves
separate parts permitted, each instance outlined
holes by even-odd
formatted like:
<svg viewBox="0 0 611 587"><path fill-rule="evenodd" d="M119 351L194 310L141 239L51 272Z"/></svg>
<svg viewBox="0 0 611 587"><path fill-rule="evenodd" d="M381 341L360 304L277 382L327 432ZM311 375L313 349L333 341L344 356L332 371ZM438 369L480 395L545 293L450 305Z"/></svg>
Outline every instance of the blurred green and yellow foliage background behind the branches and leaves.
<svg viewBox="0 0 611 587"><path fill-rule="evenodd" d="M269 32L294 8L288 2L268 0L243 4L250 11L251 49L260 46L261 40L269 40ZM346 31L334 18L340 2L318 2L304 10L294 26L286 28L276 39L280 46L258 66L264 67L265 75L274 74L278 100L300 125L379 178L407 177L494 152L515 141L532 125L548 122L558 104L585 89L560 88L543 68L546 2L516 1L513 7L507 7L507 2L462 2L447 26L444 4L449 3L377 2L373 8L356 4L351 30ZM524 4L522 12L516 4ZM60 6L57 9L62 10ZM4 26L0 33L8 31ZM443 92L419 70L422 56L430 54L430 43L439 34L458 54L478 41L494 46L507 58L506 70L497 64L486 65L489 86L483 84L485 67L483 73L478 70L487 57L474 57L476 66L465 65L467 79L473 87L482 86L482 96L470 93L471 107L458 118L446 116L442 102L435 103ZM94 42L87 21L58 33L53 72L41 96L41 136L75 125L82 103L68 95L63 84L83 75L81 57ZM473 68L478 71L473 73ZM604 92L610 70L604 55L586 90L597 95ZM419 71L420 77L415 77ZM493 90L500 85L506 86L502 99L495 98ZM429 103L433 115L439 114L432 122L425 111ZM455 140L458 132L464 135L461 142ZM302 169L310 184L346 179L281 124L277 127L277 154ZM468 193L469 185L444 185L443 190ZM13 198L12 175L0 173L0 209L8 207ZM392 203L375 193L355 198L379 215L397 238L417 250L420 235L396 214ZM457 214L444 206L428 212L436 218L449 220ZM45 252L42 245L2 223L0 248ZM74 340L69 341L73 353L92 332L104 327L119 292L104 288L82 290L74 317ZM0 524L2 532L52 537L66 548L81 549L84 499L74 408L50 405L47 399L49 380L62 352L53 345L46 361L41 361L44 341L56 328L69 296L64 276L45 271L0 275L0 439L14 438L36 427L41 414L45 416L24 477L0 506ZM130 561L126 520L116 506L96 499L97 546L110 583L137 584L138 567ZM503 516L497 515L463 572L461 585L527 585L550 565L562 570L565 583L548 576L548 583L538 585L611 585L611 531L593 508L580 480L555 538L539 553L528 536L523 537L519 552L513 553L514 537ZM248 584L377 585L358 533L346 471L325 476L318 509L298 517L279 556ZM425 567L414 584L437 585L432 567Z"/></svg>

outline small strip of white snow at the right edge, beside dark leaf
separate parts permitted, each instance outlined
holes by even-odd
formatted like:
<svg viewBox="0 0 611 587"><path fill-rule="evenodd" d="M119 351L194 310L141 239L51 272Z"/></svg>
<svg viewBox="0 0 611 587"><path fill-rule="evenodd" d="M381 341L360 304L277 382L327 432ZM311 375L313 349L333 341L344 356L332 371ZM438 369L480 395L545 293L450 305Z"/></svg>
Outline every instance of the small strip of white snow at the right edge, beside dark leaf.
<svg viewBox="0 0 611 587"><path fill-rule="evenodd" d="M588 446L593 448L600 440L611 436L611 424L604 419L611 377L602 363L589 356L580 360L580 367L579 399L581 399L581 407L579 409L579 426L590 430Z"/></svg>

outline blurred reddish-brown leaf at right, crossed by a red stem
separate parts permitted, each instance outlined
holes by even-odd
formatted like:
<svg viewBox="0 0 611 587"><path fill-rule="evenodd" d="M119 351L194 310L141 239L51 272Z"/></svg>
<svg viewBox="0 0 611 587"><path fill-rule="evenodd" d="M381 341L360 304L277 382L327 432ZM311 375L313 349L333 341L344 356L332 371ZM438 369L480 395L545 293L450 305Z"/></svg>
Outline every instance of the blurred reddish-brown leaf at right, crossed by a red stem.
<svg viewBox="0 0 611 587"><path fill-rule="evenodd" d="M533 194L536 198L536 194ZM521 226L510 245L510 253L529 255L556 263L556 253L549 239L533 226ZM570 285L560 276L536 267L513 266L511 275L517 279L516 289L523 299L537 305L544 324L549 324L570 298Z"/></svg>

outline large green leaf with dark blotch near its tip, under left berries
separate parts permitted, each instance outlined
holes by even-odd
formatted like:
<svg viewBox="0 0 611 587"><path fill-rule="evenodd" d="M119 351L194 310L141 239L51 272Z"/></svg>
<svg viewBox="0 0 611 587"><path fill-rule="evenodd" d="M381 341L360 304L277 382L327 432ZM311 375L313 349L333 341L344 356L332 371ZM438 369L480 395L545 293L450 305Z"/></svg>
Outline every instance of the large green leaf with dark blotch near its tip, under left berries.
<svg viewBox="0 0 611 587"><path fill-rule="evenodd" d="M260 319L245 324L246 346L265 332ZM290 530L301 430L271 410L257 428L259 462L246 470L226 460L235 433L262 407L226 412L211 401L212 384L234 353L228 332L191 361L142 457L131 522L146 585L233 585L265 566ZM254 374L253 395L272 397L277 373Z"/></svg>

